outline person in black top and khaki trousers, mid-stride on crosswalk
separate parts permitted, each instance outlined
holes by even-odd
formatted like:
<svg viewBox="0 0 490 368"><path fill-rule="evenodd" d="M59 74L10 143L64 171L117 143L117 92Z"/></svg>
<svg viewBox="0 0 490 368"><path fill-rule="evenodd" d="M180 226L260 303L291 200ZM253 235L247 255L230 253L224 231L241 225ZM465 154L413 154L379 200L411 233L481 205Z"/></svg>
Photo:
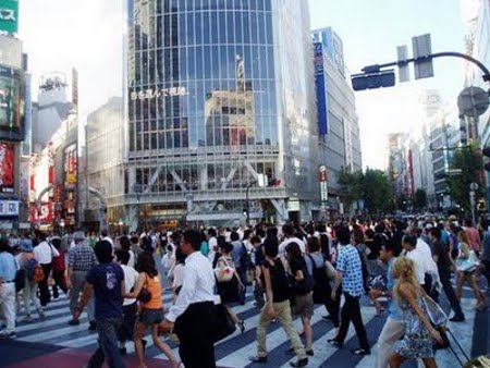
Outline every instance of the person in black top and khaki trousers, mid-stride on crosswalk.
<svg viewBox="0 0 490 368"><path fill-rule="evenodd" d="M278 319L290 338L291 346L297 357L296 361L290 363L291 367L305 367L308 364L308 356L293 324L290 305L292 285L281 258L278 257L278 242L266 238L264 250L266 261L262 267L262 283L266 285L267 303L260 310L257 327L257 355L249 359L253 363L267 364L267 327L272 320Z"/></svg>

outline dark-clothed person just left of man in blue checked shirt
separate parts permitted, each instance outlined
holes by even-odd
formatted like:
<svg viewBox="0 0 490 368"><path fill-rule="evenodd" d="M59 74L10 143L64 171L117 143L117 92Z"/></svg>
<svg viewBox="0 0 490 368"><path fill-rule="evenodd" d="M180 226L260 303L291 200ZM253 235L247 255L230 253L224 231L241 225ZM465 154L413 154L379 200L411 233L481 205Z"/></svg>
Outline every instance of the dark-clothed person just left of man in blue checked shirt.
<svg viewBox="0 0 490 368"><path fill-rule="evenodd" d="M335 329L340 326L339 305L331 298L332 286L330 285L329 274L327 273L327 259L321 252L320 242L311 236L307 242L305 261L308 272L313 275L313 299L314 304L322 304L329 312L329 320L332 321ZM340 295L338 295L340 297Z"/></svg>

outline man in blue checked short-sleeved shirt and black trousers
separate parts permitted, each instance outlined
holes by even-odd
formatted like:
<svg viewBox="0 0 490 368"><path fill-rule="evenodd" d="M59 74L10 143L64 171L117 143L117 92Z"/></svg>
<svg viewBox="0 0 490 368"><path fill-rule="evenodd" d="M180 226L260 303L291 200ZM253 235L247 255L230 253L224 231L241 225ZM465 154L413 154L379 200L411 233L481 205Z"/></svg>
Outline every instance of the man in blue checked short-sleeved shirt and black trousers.
<svg viewBox="0 0 490 368"><path fill-rule="evenodd" d="M336 277L332 290L332 299L338 298L336 291L342 284L345 297L341 312L341 326L335 339L329 340L334 346L342 346L347 335L351 321L356 329L359 347L353 353L356 355L371 354L367 340L366 329L360 314L359 299L364 294L364 280L360 256L356 248L351 245L351 232L347 228L336 230L336 238L341 245L339 259L336 261Z"/></svg>

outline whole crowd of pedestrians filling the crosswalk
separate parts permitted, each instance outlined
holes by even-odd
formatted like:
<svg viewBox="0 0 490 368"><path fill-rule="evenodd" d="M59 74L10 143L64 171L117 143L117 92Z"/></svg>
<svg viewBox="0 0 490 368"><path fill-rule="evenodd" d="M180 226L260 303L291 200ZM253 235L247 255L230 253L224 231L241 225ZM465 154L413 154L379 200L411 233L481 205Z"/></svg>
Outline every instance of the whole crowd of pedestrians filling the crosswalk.
<svg viewBox="0 0 490 368"><path fill-rule="evenodd" d="M0 240L0 307L3 339L15 338L16 315L25 322L66 294L71 326L86 311L88 329L99 335L99 348L88 367L124 367L127 343L133 343L139 367L146 367L146 335L171 367L216 367L213 306L221 303L237 332L244 320L233 311L246 303L247 291L258 308L257 352L253 363L268 364L267 331L278 321L295 355L290 365L304 367L315 355L311 318L324 306L326 323L342 348L348 328L355 328L355 355L369 355L373 344L362 315L367 297L376 314L388 315L377 338L376 367L400 367L420 359L437 367L434 343L443 343L430 319L428 302L439 303L444 291L450 322L464 322L462 287L467 283L487 308L480 275L490 282L490 223L424 219L336 221L303 226L258 224L253 228L199 229L88 236L76 231L56 236ZM453 282L453 275L455 280ZM455 285L455 287L454 287ZM170 305L163 305L171 290ZM365 300L365 302L366 302ZM432 302L433 300L433 302ZM429 303L429 304L430 304ZM299 318L302 330L293 324ZM175 356L162 334L179 342ZM318 354L318 353L317 353Z"/></svg>

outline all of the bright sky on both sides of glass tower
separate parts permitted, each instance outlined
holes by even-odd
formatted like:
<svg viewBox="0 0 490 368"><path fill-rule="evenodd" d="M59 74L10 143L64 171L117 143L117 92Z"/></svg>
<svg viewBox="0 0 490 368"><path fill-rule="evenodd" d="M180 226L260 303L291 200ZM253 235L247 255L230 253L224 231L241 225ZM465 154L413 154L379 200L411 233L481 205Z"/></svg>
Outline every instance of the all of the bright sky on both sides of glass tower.
<svg viewBox="0 0 490 368"><path fill-rule="evenodd" d="M351 73L394 60L396 46L411 47L412 36L425 33L432 34L433 51L464 48L460 0L308 1L311 28L335 29ZM122 0L21 1L20 37L35 78L76 66L82 114L121 95L121 4ZM356 94L365 165L385 168L388 133L417 130L421 90L440 88L448 103L455 103L464 82L463 63L438 60L434 69L431 79Z"/></svg>

